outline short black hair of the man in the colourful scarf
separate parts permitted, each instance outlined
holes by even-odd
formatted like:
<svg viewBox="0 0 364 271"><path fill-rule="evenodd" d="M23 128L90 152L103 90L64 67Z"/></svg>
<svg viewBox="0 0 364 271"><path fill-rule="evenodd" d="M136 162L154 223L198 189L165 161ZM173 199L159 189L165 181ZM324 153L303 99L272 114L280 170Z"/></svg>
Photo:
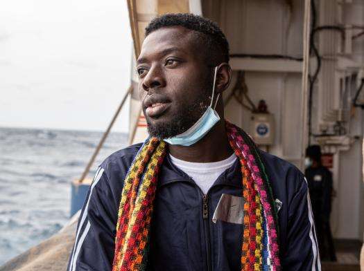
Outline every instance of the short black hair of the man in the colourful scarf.
<svg viewBox="0 0 364 271"><path fill-rule="evenodd" d="M229 42L218 25L207 18L191 13L167 13L155 17L146 27L146 36L151 32L168 26L183 26L198 33L198 39L205 47L214 66L219 62L229 62Z"/></svg>

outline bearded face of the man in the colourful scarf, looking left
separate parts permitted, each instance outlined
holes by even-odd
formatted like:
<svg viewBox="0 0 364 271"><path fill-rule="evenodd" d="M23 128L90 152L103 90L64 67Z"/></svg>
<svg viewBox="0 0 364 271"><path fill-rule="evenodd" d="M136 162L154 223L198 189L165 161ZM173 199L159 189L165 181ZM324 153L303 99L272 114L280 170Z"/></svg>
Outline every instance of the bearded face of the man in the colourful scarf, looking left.
<svg viewBox="0 0 364 271"><path fill-rule="evenodd" d="M150 136L183 133L209 106L212 68L203 50L196 33L181 26L160 28L144 40L137 71Z"/></svg>

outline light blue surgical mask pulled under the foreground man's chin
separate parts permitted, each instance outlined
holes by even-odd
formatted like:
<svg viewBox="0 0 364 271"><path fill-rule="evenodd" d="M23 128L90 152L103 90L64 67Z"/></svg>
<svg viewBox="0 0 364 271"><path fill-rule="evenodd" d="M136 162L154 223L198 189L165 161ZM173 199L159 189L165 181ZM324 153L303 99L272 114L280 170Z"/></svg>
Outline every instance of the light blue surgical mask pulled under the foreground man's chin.
<svg viewBox="0 0 364 271"><path fill-rule="evenodd" d="M205 113L198 119L198 121L192 125L187 131L180 133L173 138L164 139L165 142L168 142L172 145L182 145L182 146L191 146L195 144L203 138L214 125L220 120L218 113L215 111L216 104L218 103L218 96L216 97L216 102L214 104L214 108L212 108L212 102L214 101L214 93L215 93L215 82L216 82L216 73L218 71L218 67L215 67L214 73L214 84L212 86L212 97L211 104L207 107Z"/></svg>

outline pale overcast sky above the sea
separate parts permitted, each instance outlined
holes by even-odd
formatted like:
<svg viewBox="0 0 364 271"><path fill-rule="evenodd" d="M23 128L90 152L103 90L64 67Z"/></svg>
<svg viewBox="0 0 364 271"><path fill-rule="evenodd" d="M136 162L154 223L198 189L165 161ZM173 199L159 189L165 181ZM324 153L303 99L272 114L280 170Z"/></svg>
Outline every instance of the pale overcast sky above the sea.
<svg viewBox="0 0 364 271"><path fill-rule="evenodd" d="M0 127L104 131L130 86L125 2L0 1Z"/></svg>

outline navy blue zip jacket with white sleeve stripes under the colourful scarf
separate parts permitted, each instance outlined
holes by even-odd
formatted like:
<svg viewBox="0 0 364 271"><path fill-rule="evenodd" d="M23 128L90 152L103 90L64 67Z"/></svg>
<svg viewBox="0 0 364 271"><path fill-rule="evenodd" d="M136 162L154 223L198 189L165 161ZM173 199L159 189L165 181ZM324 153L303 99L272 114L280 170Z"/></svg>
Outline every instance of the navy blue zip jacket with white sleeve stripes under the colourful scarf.
<svg viewBox="0 0 364 271"><path fill-rule="evenodd" d="M112 269L123 180L140 147L116 151L98 168L80 214L68 270ZM283 270L320 270L304 175L275 156L264 152L261 156L273 196L282 203L278 216ZM207 192L209 213L204 219L201 189L166 156L155 197L148 270L241 270L243 226L211 221L222 194L243 194L241 179L236 160Z"/></svg>

